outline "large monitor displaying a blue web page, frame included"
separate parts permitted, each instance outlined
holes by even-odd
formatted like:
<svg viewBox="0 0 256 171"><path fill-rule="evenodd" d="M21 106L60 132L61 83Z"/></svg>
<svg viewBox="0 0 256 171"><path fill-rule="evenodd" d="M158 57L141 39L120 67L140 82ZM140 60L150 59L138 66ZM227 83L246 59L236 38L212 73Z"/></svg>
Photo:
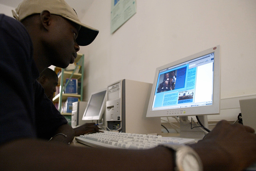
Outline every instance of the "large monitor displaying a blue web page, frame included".
<svg viewBox="0 0 256 171"><path fill-rule="evenodd" d="M147 117L220 112L220 46L156 69Z"/></svg>

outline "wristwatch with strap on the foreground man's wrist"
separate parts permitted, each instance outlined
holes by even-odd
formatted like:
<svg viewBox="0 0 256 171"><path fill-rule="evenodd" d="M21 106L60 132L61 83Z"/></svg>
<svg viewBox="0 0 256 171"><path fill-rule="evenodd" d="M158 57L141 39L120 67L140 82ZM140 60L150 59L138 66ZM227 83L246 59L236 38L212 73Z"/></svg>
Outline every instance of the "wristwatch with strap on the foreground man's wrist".
<svg viewBox="0 0 256 171"><path fill-rule="evenodd" d="M175 171L203 171L203 165L197 152L190 146L176 144L162 144L173 153Z"/></svg>

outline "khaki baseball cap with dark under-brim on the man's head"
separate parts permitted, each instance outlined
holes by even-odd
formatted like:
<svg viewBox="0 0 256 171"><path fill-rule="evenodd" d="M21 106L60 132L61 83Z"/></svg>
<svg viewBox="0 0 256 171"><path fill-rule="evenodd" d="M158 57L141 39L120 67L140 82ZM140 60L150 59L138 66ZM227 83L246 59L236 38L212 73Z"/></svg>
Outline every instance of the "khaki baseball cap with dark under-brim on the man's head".
<svg viewBox="0 0 256 171"><path fill-rule="evenodd" d="M40 14L42 11L48 10L52 14L62 16L81 25L76 39L79 46L91 44L99 33L97 29L81 23L75 10L64 0L23 0L15 10L16 12L12 10L12 14L19 21L32 14Z"/></svg>

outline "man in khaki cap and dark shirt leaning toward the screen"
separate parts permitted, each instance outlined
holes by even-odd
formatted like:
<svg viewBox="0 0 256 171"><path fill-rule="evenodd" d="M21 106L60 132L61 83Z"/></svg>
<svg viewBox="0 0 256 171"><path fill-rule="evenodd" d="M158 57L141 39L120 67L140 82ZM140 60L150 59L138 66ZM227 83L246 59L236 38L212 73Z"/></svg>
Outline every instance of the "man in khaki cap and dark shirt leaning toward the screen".
<svg viewBox="0 0 256 171"><path fill-rule="evenodd" d="M82 24L64 0L23 0L13 15L16 20L0 14L0 170L240 171L256 161L252 128L227 121L197 144L179 147L193 154L186 162L177 162L179 150L170 146L97 149L40 140L68 144L74 133L36 78L50 65L73 63L79 46L91 44L98 31Z"/></svg>

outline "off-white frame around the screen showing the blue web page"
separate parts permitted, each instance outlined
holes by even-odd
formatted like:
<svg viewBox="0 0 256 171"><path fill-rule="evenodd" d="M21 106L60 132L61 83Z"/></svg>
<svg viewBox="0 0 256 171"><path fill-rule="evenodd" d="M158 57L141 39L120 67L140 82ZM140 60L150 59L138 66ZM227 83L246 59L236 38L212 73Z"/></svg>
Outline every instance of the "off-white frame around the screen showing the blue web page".
<svg viewBox="0 0 256 171"><path fill-rule="evenodd" d="M196 106L181 109L162 109L152 110L155 90L157 86L159 71L170 68L175 65L196 59L209 53L214 52L214 75L213 75L213 102L210 106ZM220 65L220 46L215 46L199 53L187 56L169 64L156 68L153 87L150 94L149 105L147 109L147 117L172 117L172 116L193 116L193 115L218 115L220 114L220 90L221 90L221 65Z"/></svg>

